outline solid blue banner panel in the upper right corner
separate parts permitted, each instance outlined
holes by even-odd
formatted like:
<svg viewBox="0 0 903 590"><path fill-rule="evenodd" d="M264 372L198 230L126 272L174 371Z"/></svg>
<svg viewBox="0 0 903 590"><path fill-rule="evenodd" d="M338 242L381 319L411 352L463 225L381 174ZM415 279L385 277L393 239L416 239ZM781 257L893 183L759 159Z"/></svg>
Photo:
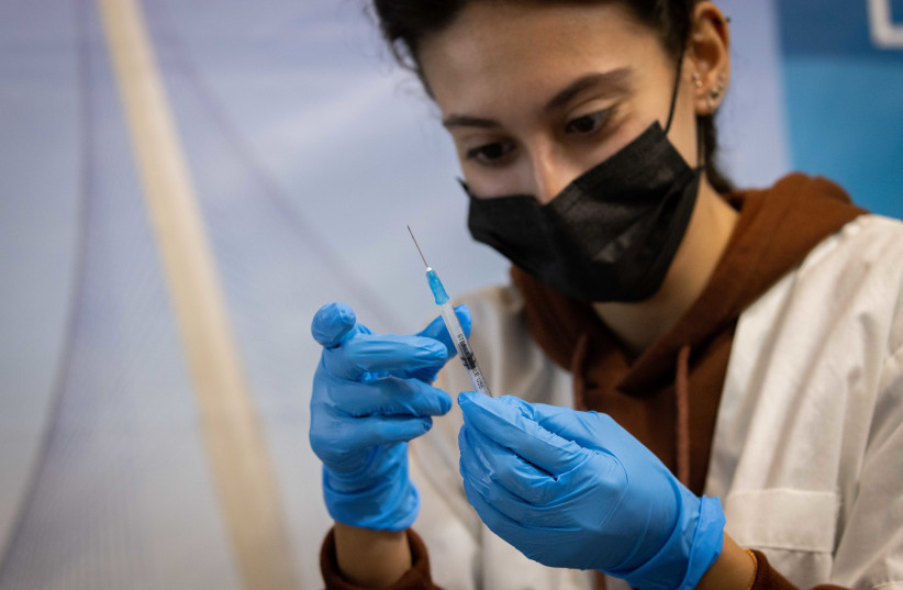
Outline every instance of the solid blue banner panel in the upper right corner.
<svg viewBox="0 0 903 590"><path fill-rule="evenodd" d="M779 0L793 167L903 218L903 0Z"/></svg>

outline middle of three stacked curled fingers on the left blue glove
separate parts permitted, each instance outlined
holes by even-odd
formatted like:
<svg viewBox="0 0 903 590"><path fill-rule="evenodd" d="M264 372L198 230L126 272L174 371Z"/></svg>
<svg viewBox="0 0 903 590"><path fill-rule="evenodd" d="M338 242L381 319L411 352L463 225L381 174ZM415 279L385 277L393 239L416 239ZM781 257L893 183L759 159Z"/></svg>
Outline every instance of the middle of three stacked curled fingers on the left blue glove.
<svg viewBox="0 0 903 590"><path fill-rule="evenodd" d="M448 393L419 379L383 377L344 381L332 376L325 378L333 385L330 393L333 407L354 418L443 415L452 409Z"/></svg>

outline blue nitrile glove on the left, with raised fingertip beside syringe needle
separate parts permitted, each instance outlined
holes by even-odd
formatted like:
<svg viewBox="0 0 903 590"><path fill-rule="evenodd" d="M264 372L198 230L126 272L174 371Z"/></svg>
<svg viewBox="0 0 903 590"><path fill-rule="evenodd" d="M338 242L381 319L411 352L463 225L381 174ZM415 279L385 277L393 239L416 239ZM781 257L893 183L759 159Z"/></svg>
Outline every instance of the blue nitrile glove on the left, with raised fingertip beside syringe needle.
<svg viewBox="0 0 903 590"><path fill-rule="evenodd" d="M469 333L470 313L456 310ZM311 447L323 461L323 496L337 522L403 531L420 501L408 478L408 441L452 408L431 387L455 347L441 319L415 336L379 336L348 305L331 303L311 325L323 345L313 378Z"/></svg>

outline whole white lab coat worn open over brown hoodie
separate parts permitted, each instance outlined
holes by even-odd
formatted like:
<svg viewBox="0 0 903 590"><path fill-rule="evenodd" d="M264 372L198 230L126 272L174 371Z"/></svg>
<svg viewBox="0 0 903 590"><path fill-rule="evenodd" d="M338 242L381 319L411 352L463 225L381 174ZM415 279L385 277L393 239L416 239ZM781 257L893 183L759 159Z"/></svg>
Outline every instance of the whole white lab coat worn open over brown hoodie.
<svg viewBox="0 0 903 590"><path fill-rule="evenodd" d="M903 589L903 224L865 215L820 244L739 319L705 485L726 531L803 589ZM511 287L465 298L494 394L572 404ZM439 387L471 389L453 364ZM692 394L692 393L691 393ZM692 403L692 398L691 398ZM446 590L592 588L495 537L458 475L457 405L411 446L414 528ZM609 580L609 588L626 588Z"/></svg>

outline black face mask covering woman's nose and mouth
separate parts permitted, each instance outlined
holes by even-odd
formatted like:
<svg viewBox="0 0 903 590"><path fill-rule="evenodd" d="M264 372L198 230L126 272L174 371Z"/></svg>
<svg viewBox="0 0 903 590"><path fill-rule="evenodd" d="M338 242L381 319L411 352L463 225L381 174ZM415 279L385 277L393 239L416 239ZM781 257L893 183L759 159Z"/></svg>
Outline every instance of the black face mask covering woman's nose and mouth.
<svg viewBox="0 0 903 590"><path fill-rule="evenodd" d="M661 288L700 178L655 122L546 204L529 196L480 199L462 185L475 240L561 293L627 302Z"/></svg>

